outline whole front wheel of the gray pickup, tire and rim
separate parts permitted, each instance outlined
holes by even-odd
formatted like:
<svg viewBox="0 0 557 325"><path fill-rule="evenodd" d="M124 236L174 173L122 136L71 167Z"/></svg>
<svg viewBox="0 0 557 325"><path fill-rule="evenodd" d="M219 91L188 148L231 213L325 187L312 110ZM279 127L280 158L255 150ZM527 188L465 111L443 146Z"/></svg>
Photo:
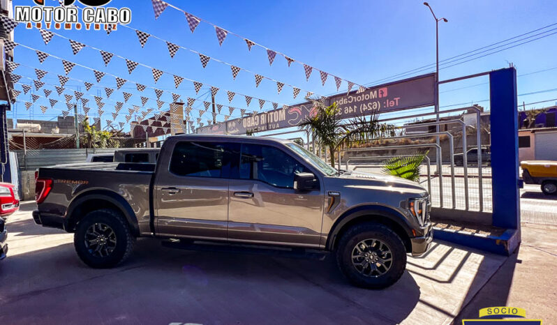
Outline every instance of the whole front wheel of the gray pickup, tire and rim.
<svg viewBox="0 0 557 325"><path fill-rule="evenodd" d="M406 269L406 248L385 225L364 223L343 234L336 262L352 285L382 289L393 285Z"/></svg>

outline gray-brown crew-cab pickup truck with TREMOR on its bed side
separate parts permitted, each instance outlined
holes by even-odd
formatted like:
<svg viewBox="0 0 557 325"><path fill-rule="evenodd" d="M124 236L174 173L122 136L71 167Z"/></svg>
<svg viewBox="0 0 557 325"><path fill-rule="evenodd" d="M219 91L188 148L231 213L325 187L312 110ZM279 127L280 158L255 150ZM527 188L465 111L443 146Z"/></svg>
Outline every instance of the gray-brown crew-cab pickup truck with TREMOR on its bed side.
<svg viewBox="0 0 557 325"><path fill-rule="evenodd" d="M36 202L35 222L75 233L77 255L94 268L156 237L189 249L332 252L352 284L383 288L432 240L429 194L417 183L336 170L283 139L177 135L156 165L43 167Z"/></svg>

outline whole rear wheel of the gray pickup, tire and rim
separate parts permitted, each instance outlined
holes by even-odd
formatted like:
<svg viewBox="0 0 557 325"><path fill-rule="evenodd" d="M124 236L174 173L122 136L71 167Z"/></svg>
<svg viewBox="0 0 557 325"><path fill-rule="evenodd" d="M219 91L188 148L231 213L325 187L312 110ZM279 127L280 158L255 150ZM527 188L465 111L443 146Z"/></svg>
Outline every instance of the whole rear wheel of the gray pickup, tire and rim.
<svg viewBox="0 0 557 325"><path fill-rule="evenodd" d="M91 211L77 223L73 245L80 259L96 269L107 269L131 254L135 238L124 217L112 209Z"/></svg>

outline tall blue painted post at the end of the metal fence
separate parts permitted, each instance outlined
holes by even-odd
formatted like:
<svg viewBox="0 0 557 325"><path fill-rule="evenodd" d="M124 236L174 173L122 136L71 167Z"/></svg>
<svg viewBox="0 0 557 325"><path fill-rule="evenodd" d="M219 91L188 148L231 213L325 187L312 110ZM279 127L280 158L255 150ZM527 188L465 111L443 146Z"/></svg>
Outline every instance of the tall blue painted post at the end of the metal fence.
<svg viewBox="0 0 557 325"><path fill-rule="evenodd" d="M517 70L489 73L493 226L519 229Z"/></svg>

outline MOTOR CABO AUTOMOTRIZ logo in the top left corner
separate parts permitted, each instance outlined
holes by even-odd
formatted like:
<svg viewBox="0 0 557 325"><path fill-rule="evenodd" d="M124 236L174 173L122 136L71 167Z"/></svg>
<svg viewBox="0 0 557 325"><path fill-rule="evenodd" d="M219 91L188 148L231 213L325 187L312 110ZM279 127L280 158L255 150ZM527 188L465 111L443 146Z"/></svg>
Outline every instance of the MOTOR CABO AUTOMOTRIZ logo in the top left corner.
<svg viewBox="0 0 557 325"><path fill-rule="evenodd" d="M64 0L60 6L45 6L45 0L33 0L37 6L15 6L14 19L27 29L114 30L118 24L131 22L130 8L104 7L111 0ZM84 5L84 8L74 6Z"/></svg>

